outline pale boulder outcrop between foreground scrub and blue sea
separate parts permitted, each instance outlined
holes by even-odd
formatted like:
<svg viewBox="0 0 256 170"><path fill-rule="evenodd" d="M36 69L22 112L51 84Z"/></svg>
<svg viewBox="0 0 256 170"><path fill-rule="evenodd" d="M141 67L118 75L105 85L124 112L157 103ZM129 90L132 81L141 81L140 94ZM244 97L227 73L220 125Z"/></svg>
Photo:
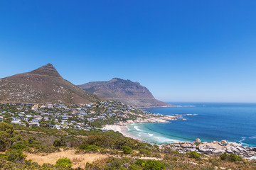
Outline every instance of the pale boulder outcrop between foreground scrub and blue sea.
<svg viewBox="0 0 256 170"><path fill-rule="evenodd" d="M201 154L238 154L241 157L256 156L256 147L244 147L236 142L227 142L222 140L220 142L173 142L166 145L161 145L161 148L171 148L180 153L196 151Z"/></svg>

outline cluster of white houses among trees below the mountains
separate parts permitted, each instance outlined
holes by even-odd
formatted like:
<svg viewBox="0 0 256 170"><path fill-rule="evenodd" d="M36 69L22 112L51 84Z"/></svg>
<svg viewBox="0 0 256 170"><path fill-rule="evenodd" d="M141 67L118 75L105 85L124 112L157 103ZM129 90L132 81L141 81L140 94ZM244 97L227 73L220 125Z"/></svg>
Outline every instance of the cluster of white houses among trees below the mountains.
<svg viewBox="0 0 256 170"><path fill-rule="evenodd" d="M0 103L0 121L26 127L55 129L102 130L95 123L119 122L136 118L135 113L151 115L119 101L102 101L80 105ZM112 120L112 121L110 121Z"/></svg>

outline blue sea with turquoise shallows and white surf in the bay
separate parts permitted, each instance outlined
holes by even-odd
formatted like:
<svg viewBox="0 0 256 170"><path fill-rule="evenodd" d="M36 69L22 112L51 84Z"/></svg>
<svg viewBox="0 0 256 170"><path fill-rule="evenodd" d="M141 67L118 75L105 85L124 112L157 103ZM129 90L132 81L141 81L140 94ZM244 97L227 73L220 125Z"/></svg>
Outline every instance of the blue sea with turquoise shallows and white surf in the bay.
<svg viewBox="0 0 256 170"><path fill-rule="evenodd" d="M182 114L186 120L169 123L134 123L128 132L146 142L165 144L191 141L228 140L256 147L256 103L174 103L194 107L149 108L164 115ZM195 115L185 115L195 114Z"/></svg>

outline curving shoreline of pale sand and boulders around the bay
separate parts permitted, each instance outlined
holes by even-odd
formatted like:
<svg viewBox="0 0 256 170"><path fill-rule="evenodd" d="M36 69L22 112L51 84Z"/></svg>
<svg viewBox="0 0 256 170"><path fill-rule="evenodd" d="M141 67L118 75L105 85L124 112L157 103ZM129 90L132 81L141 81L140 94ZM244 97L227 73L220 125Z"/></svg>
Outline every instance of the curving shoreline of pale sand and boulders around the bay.
<svg viewBox="0 0 256 170"><path fill-rule="evenodd" d="M193 115L193 114L188 114ZM129 133L129 128L127 125L131 125L133 123L169 123L170 120L184 120L182 115L164 115L161 117L153 117L149 116L147 118L137 118L137 120L128 120L127 122L120 122L114 125L105 125L103 128L107 130L113 130L114 132L120 132L124 137L129 137L134 140L138 140L139 142L152 143L142 140L141 138L132 135ZM171 140L171 139L170 139ZM228 142L228 141L213 141L213 142L200 142L200 145L196 145L196 142L184 142L184 141L176 141L176 142L167 142L166 144L156 144L159 145L162 149L164 147L169 147L175 149L180 153L186 153L190 151L196 151L201 154L223 154L223 153L233 153L238 154L241 157L247 159L255 159L256 157L256 147L247 147L242 146L237 142Z"/></svg>

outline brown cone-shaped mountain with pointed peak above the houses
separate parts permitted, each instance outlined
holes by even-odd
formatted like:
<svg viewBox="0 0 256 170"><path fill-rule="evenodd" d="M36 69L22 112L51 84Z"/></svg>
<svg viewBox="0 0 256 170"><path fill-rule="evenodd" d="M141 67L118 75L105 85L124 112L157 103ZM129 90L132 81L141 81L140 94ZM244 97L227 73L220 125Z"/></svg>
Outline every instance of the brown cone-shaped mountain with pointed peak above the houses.
<svg viewBox="0 0 256 170"><path fill-rule="evenodd" d="M103 99L63 79L53 64L0 79L0 102L72 104Z"/></svg>

